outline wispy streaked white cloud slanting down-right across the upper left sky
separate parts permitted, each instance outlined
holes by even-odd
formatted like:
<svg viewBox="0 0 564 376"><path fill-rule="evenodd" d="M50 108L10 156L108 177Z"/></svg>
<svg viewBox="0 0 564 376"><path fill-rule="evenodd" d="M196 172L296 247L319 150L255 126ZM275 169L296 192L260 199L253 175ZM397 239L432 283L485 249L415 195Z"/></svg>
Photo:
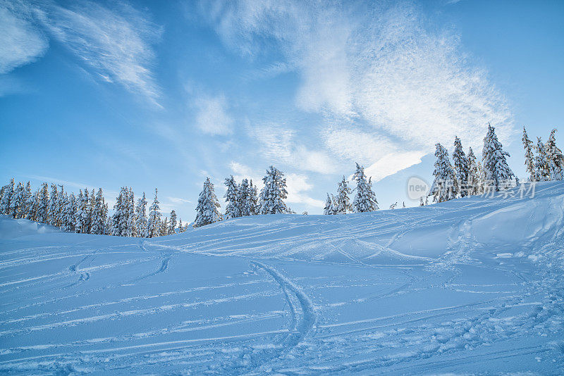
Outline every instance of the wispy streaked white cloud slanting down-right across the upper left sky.
<svg viewBox="0 0 564 376"><path fill-rule="evenodd" d="M151 70L151 44L159 39L161 28L145 15L127 4L106 8L91 1L71 8L46 6L37 14L51 35L94 69L99 79L117 82L157 104L160 93Z"/></svg>

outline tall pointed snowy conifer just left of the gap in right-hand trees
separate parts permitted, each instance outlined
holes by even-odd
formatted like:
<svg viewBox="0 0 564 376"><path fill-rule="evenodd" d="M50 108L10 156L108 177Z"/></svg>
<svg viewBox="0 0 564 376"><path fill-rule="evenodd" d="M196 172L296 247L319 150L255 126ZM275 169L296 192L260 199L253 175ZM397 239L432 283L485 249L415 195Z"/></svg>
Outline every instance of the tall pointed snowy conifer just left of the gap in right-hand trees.
<svg viewBox="0 0 564 376"><path fill-rule="evenodd" d="M488 133L484 137L482 149L482 166L486 173L486 184L493 184L496 191L510 187L515 179L515 174L507 163L508 156L509 153L503 151L503 145L498 141L495 128L488 124Z"/></svg>

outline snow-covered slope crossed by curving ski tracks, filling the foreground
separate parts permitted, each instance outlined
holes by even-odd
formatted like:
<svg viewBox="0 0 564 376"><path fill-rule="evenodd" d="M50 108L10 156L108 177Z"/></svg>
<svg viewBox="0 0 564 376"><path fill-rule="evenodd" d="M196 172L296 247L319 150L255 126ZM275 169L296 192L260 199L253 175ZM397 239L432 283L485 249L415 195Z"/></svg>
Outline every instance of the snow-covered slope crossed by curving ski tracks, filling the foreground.
<svg viewBox="0 0 564 376"><path fill-rule="evenodd" d="M15 223L2 373L564 373L564 183L157 239Z"/></svg>

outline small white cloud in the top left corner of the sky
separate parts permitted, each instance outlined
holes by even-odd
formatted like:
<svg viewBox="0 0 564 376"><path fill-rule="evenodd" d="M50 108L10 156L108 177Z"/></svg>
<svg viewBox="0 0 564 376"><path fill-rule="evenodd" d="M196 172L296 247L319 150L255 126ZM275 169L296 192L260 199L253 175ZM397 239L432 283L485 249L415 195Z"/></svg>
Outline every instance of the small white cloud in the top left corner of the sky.
<svg viewBox="0 0 564 376"><path fill-rule="evenodd" d="M0 74L43 56L47 38L32 23L31 8L18 1L0 1Z"/></svg>

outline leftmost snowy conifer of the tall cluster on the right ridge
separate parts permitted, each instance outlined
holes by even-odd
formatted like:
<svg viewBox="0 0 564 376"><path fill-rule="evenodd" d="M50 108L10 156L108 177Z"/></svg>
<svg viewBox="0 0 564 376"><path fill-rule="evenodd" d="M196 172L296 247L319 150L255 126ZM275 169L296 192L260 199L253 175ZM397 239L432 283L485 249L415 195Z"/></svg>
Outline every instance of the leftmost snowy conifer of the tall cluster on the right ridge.
<svg viewBox="0 0 564 376"><path fill-rule="evenodd" d="M433 196L433 201L444 202L456 197L458 187L455 170L448 158L448 151L439 143L435 144L435 147L436 161L433 171L435 178L429 193Z"/></svg>

